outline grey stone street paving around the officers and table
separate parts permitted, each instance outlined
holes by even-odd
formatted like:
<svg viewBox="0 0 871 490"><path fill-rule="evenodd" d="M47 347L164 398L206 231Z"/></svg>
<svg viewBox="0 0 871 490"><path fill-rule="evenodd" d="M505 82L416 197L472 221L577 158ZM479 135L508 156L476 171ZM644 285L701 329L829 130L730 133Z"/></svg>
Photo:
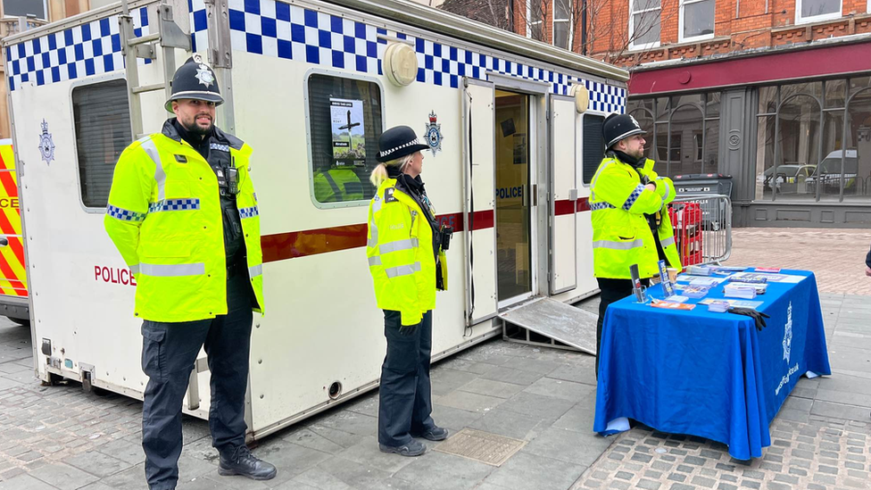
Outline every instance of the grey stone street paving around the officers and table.
<svg viewBox="0 0 871 490"><path fill-rule="evenodd" d="M438 451L379 453L376 391L260 441L253 453L278 466L269 482L219 477L208 424L186 417L178 488L868 488L869 242L867 230L734 230L727 263L817 273L833 368L831 377L800 380L762 458L735 461L723 444L644 427L597 436L592 356L497 339L437 363L432 378L440 425L524 442L501 466ZM591 298L578 306L597 305ZM40 386L29 328L0 320L0 490L146 488L141 408L118 394L85 394L78 383Z"/></svg>

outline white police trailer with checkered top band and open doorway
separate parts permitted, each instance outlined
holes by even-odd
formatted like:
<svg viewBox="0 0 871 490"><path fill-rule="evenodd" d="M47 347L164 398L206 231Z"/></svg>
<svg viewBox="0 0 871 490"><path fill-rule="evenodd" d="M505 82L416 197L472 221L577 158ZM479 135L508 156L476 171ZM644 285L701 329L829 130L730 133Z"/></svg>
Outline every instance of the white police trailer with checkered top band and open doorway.
<svg viewBox="0 0 871 490"><path fill-rule="evenodd" d="M594 315L568 303L596 292L588 183L626 71L409 0L131 0L3 43L39 378L142 396L136 278L103 217L114 163L161 128L192 51L219 78L218 126L253 147L250 436L377 386L368 175L397 124L429 144L427 192L456 230L434 357L500 334L594 349ZM185 407L205 418L201 355Z"/></svg>

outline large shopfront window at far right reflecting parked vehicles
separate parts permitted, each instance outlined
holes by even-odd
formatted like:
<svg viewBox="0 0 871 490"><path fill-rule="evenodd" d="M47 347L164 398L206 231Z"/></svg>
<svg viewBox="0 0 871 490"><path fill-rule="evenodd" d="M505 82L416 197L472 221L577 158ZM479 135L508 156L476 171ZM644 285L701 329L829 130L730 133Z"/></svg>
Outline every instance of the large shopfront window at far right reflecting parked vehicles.
<svg viewBox="0 0 871 490"><path fill-rule="evenodd" d="M756 199L871 200L871 77L759 88Z"/></svg>

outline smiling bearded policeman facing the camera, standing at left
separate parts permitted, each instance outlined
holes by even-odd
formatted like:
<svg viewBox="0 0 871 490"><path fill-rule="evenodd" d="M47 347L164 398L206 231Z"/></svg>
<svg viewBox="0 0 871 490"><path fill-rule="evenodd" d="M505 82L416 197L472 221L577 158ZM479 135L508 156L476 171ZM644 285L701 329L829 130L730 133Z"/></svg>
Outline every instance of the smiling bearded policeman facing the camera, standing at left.
<svg viewBox="0 0 871 490"><path fill-rule="evenodd" d="M223 102L199 55L178 68L166 103L176 117L120 155L104 218L137 279L142 324L145 477L175 488L181 403L200 348L212 371L209 428L222 476L274 478L245 446L252 310L262 312L260 218L251 147L213 125Z"/></svg>

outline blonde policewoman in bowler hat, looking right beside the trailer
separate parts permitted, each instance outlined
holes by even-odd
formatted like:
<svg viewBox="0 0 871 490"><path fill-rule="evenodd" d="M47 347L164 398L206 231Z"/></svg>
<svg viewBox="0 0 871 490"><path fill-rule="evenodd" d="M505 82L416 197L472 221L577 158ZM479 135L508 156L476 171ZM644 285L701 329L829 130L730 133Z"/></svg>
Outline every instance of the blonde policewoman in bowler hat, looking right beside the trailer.
<svg viewBox="0 0 871 490"><path fill-rule="evenodd" d="M388 129L378 139L370 180L377 186L369 203L369 272L378 308L384 310L387 354L381 366L378 447L385 453L418 456L420 436L441 441L448 431L435 426L429 361L435 290L444 289L444 250L450 229L442 229L424 190L420 142L408 126Z"/></svg>

